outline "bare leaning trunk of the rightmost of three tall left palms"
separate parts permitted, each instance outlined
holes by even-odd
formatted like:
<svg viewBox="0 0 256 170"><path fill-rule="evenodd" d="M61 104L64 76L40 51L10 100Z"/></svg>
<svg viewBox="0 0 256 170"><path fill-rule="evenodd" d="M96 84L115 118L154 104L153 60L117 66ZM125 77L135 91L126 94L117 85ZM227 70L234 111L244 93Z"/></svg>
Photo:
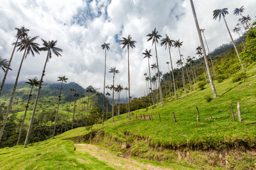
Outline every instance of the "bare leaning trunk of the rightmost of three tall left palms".
<svg viewBox="0 0 256 170"><path fill-rule="evenodd" d="M39 96L40 96L40 90L42 88L42 82L43 82L43 78L44 78L44 75L45 75L45 67L46 67L46 64L47 64L47 61L48 61L48 57L49 57L49 51L47 53L47 57L46 57L45 64L44 64L44 69L43 69L41 80L40 80L40 83L39 83L39 87L38 87L38 91L37 91L37 95L36 95L35 106L34 106L34 109L33 109L33 113L31 115L31 119L30 119L30 123L29 123L29 127L28 127L28 132L27 132L26 140L25 140L25 143L24 143L24 148L26 148L27 145L28 145L29 134L30 134L30 131L32 129L33 118L35 116L36 106L37 106L37 102L38 102L38 99L39 99Z"/></svg>

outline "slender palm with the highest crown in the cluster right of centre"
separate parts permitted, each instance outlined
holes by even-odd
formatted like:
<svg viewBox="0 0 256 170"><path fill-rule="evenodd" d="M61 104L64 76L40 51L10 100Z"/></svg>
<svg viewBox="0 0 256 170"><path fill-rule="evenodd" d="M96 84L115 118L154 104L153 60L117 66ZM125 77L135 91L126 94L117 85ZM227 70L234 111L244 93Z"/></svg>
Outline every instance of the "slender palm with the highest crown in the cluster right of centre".
<svg viewBox="0 0 256 170"><path fill-rule="evenodd" d="M151 34L147 35L148 41L150 41L152 39L152 45L155 45L155 51L156 51L156 63L157 63L157 71L159 73L159 64L158 64L158 58L157 58L157 49L156 49L156 43L158 43L158 39L161 38L161 35L158 34L158 31L156 31L156 28L152 31ZM160 98L161 98L161 107L163 107L163 95L162 95L162 89L161 89L161 80L160 80L160 76L158 77L158 81L159 81L159 90L160 90Z"/></svg>

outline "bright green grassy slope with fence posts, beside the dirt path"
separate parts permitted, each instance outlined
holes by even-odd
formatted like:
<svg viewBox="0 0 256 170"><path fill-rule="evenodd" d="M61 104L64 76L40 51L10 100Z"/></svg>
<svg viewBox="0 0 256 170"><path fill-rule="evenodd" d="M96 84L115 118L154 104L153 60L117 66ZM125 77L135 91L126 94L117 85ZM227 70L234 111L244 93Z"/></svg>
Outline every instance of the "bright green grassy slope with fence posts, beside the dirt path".
<svg viewBox="0 0 256 170"><path fill-rule="evenodd" d="M248 77L254 76L256 66L251 66L248 70ZM138 120L132 122L135 118L134 120L129 120L125 118L127 114L124 114L121 115L119 122L116 121L117 118L115 117L114 124L109 119L103 129L107 134L118 138L118 141L127 141L124 132L131 132L138 136L148 137L152 145L213 147L220 149L225 147L224 144L244 141L248 145L255 146L255 124L246 125L246 123L256 122L256 78L248 78L246 81L237 83L232 83L230 78L223 81L223 83L215 82L215 84L218 97L209 103L204 99L205 95L211 95L211 89L207 85L205 90L198 90L196 94L165 103L163 108L157 107L154 110L146 111L144 109L133 112L135 117L136 114L139 116L141 113L150 115L151 111L154 114L153 121ZM232 117L230 116L229 104L230 102L233 103L234 111L236 112L237 101L241 103L243 117L243 122L241 123L238 121L232 122ZM195 105L198 106L200 111L200 122L196 122ZM172 119L172 111L177 118L176 124ZM161 122L159 121L158 113L161 115ZM216 120L205 120L211 115ZM131 123L124 124L125 122ZM95 125L94 129L102 129L102 125ZM18 162L22 162L19 167L28 169L33 167L51 168L53 164L63 169L83 167L84 165L79 162L79 159L92 160L92 162L94 162L94 159L89 155L81 155L74 152L72 141L61 139L81 136L88 132L90 131L85 131L83 127L80 127L65 132L56 139L35 143L33 146L29 146L29 149L23 149L22 146L3 148L0 150L0 164L5 165L4 169L15 168L18 166ZM39 153L41 155L38 155ZM106 165L96 161L92 168L97 166ZM176 167L174 168L176 169Z"/></svg>

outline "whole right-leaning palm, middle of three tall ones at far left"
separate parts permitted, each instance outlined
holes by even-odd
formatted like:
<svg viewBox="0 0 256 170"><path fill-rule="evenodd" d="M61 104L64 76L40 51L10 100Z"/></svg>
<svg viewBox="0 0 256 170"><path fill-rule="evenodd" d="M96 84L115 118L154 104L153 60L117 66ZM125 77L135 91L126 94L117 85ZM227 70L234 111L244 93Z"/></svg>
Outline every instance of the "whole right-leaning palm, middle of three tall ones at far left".
<svg viewBox="0 0 256 170"><path fill-rule="evenodd" d="M31 53L31 55L33 55L33 56L35 56L35 53L39 54L39 50L40 50L39 44L34 42L37 38L38 38L38 36L35 36L33 38L26 37L26 38L22 39L17 44L17 46L19 46L17 51L22 52L22 50L24 50L24 53L23 53L23 57L20 61L19 71L17 73L16 80L15 80L13 90L12 90L12 96L10 98L10 103L9 103L8 108L7 108L7 111L6 111L6 114L5 114L5 117L4 117L4 121L3 121L3 126L2 126L1 131L0 131L0 141L1 141L1 138L2 138L2 135L3 135L5 124L7 122L8 115L9 115L9 113L11 111L11 108L12 108L12 101L13 101L13 97L14 97L14 94L15 94L15 91L16 91L16 88L17 88L17 84L18 84L18 80L19 80L19 76L20 76L20 70L21 70L23 61L24 61L24 59L26 59L26 57L28 56L29 53Z"/></svg>

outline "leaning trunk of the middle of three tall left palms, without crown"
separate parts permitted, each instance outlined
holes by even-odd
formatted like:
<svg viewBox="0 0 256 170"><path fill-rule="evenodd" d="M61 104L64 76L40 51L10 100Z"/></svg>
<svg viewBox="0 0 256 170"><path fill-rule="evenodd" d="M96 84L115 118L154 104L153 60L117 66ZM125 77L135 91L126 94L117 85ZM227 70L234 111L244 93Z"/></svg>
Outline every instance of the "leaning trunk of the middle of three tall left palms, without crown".
<svg viewBox="0 0 256 170"><path fill-rule="evenodd" d="M25 48L25 51L24 51L22 60L21 60L21 62L20 62L19 71L18 71L18 73L17 73L17 77L16 77L16 80L15 80L15 83L14 83L14 86L13 86L13 89L12 89L12 96L11 96L11 99L10 99L10 103L9 103L9 106L8 106L7 111L6 111L6 113L5 113L5 117L4 117L4 121L3 121L3 126L2 126L2 128L1 128L1 130L0 130L0 141L1 141L1 138L2 138L2 136L3 136L4 127L5 127L5 125L6 125L6 122L7 122L8 116L9 116L9 113L10 113L10 111L11 111L11 109L12 109L12 101L13 101L13 97L14 97L14 94L15 94L15 91L16 91L16 88L17 88L17 84L18 84L18 80L19 80L19 76L20 76L20 69L21 69L22 64L23 64L23 61L24 61L24 59L25 59L25 55L28 55L28 53L26 54L27 49L28 49L28 47Z"/></svg>

